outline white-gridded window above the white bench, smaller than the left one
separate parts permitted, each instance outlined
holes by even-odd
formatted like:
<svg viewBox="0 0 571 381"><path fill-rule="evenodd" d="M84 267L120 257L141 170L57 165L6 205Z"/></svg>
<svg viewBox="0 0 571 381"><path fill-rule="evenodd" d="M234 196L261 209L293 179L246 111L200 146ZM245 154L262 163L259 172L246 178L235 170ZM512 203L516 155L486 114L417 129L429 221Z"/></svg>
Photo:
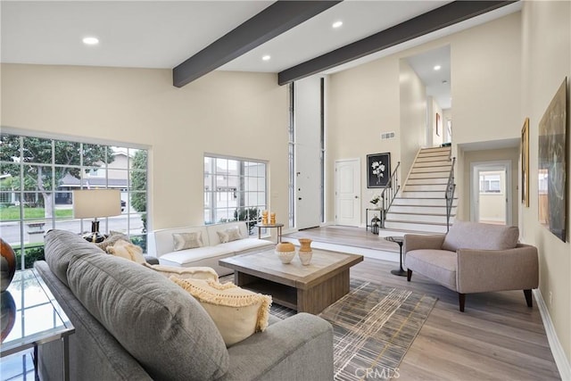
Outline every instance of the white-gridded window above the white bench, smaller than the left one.
<svg viewBox="0 0 571 381"><path fill-rule="evenodd" d="M253 225L267 209L266 163L204 156L204 223L246 221Z"/></svg>

